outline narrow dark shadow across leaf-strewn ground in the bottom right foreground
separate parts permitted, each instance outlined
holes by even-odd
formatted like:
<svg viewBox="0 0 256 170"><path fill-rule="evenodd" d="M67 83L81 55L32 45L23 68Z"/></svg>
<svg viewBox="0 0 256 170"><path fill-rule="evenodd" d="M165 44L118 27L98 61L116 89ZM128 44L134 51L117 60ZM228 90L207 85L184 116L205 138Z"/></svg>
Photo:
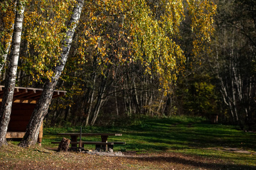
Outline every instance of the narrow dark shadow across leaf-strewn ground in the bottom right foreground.
<svg viewBox="0 0 256 170"><path fill-rule="evenodd" d="M179 158L177 156L152 156L152 157L136 157L136 158L128 158L131 160L138 160L139 162L158 162L158 163L172 163L172 164L183 164L189 165L195 168L207 168L207 169L256 169L255 166L248 166L248 165L237 165L237 164L230 164L230 163L205 163L191 159Z"/></svg>

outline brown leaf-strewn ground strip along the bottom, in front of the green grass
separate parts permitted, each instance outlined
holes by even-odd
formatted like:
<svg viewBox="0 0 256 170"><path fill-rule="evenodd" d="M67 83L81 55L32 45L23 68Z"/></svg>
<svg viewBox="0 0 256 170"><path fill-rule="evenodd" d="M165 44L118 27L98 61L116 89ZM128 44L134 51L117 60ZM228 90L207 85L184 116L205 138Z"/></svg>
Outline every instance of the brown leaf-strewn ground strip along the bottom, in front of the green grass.
<svg viewBox="0 0 256 170"><path fill-rule="evenodd" d="M82 152L33 151L42 156L0 158L0 169L251 169L212 158L179 153L99 156ZM35 153L32 153L35 154ZM8 154L7 154L8 155ZM13 158L13 159L12 159Z"/></svg>

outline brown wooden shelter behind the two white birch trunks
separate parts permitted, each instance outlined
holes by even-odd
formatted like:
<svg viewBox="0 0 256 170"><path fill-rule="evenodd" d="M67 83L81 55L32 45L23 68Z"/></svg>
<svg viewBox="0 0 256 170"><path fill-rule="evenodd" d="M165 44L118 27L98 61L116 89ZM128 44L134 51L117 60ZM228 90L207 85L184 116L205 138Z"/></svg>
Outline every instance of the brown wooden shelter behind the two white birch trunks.
<svg viewBox="0 0 256 170"><path fill-rule="evenodd" d="M0 86L0 104L2 104L3 91L5 86ZM42 88L15 87L13 96L13 106L11 107L11 119L7 129L6 138L23 138L36 101L39 100ZM64 96L66 91L55 90L52 98ZM38 142L43 138L43 124L41 125Z"/></svg>

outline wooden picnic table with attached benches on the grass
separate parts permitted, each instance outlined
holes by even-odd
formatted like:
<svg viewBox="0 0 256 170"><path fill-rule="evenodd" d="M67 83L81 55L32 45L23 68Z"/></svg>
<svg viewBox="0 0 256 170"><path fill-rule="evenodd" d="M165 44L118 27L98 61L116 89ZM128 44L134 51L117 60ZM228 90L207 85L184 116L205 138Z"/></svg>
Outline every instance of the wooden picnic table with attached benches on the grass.
<svg viewBox="0 0 256 170"><path fill-rule="evenodd" d="M79 144L79 147L81 148L84 144L95 144L96 150L97 148L102 148L104 151L108 150L108 145L114 145L114 143L117 144L125 144L125 142L110 142L108 143L108 137L109 136L122 136L122 134L119 133L58 133L57 135L69 135L71 137L71 148L78 148L77 144ZM77 138L80 136L80 142L77 141ZM82 142L81 137L86 136L101 136L101 142Z"/></svg>

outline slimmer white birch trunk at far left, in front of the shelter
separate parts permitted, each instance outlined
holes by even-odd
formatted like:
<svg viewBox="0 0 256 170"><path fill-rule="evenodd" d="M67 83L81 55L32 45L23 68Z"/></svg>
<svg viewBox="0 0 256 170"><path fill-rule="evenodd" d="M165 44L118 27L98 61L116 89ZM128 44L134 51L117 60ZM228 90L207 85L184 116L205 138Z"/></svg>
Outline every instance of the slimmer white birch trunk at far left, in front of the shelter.
<svg viewBox="0 0 256 170"><path fill-rule="evenodd" d="M7 145L6 132L11 116L11 105L13 104L13 95L16 81L16 72L19 60L20 40L22 35L22 24L24 18L24 1L18 2L14 21L13 39L11 42L11 53L9 58L9 67L5 83L5 91L0 110L0 147ZM39 127L40 128L40 127Z"/></svg>

